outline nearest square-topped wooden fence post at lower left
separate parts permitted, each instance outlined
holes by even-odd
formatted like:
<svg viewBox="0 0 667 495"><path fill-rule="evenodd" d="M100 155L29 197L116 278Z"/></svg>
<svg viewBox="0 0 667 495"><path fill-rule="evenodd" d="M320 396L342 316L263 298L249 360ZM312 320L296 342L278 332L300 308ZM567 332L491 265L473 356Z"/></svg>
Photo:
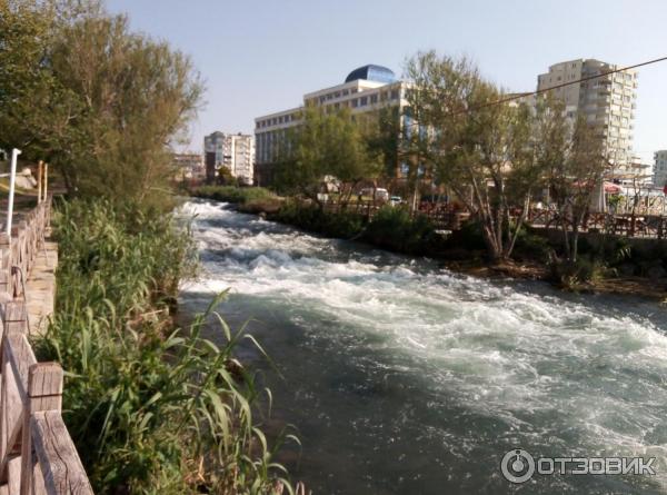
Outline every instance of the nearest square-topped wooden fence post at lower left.
<svg viewBox="0 0 667 495"><path fill-rule="evenodd" d="M37 363L28 373L28 400L23 407L21 440L21 495L30 495L34 471L30 415L62 408L62 368L58 363Z"/></svg>

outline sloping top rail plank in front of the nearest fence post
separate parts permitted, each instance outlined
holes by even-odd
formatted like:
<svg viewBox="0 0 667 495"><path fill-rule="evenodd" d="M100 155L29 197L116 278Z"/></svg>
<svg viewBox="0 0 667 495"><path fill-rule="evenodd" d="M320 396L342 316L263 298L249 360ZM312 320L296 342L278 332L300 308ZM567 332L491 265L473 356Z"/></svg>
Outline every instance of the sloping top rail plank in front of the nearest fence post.
<svg viewBox="0 0 667 495"><path fill-rule="evenodd" d="M47 493L92 495L92 487L60 413L34 413L30 428Z"/></svg>

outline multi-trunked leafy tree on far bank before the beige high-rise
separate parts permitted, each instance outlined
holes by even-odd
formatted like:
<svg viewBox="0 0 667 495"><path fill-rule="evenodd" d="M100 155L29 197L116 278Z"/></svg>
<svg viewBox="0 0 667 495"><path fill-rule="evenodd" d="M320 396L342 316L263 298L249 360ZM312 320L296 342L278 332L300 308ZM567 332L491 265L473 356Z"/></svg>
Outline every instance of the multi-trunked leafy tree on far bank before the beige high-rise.
<svg viewBox="0 0 667 495"><path fill-rule="evenodd" d="M479 221L489 256L507 260L540 180L534 116L524 103L497 105L502 91L467 59L418 53L408 61L408 102L426 167ZM512 210L518 210L516 221Z"/></svg>

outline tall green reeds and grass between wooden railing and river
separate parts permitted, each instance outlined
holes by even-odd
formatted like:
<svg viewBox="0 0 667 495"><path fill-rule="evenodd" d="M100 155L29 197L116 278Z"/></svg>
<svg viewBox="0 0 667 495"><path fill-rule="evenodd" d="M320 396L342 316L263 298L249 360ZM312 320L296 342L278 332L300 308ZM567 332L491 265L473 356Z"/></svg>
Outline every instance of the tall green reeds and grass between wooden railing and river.
<svg viewBox="0 0 667 495"><path fill-rule="evenodd" d="M34 341L66 370L63 418L99 494L292 493L260 429L270 392L236 357L211 303L173 329L195 246L169 215L96 201L62 204L56 316ZM201 337L217 321L221 344ZM285 438L291 436L285 436Z"/></svg>

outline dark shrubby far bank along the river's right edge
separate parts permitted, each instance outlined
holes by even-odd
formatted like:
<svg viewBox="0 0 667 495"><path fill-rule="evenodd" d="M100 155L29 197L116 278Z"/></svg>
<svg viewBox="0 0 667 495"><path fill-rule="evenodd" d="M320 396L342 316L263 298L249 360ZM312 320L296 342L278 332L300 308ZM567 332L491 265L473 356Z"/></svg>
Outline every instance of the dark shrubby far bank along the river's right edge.
<svg viewBox="0 0 667 495"><path fill-rule="evenodd" d="M414 244L414 246L417 247L406 249L401 248L402 246L388 242L387 231L381 232L380 236L365 235L366 227L355 225L354 221L348 219L344 219L342 226L334 226L334 228L325 226L323 228L318 228L313 227L311 220L303 221L302 218L296 215L283 215L281 214L283 201L272 197L266 189L258 191L257 188L250 188L249 190L252 192L248 195L248 197L242 194L242 189L240 190L241 192L236 191L233 188L222 188L229 189L228 191L221 191L220 189L221 188L212 187L191 192L195 197L228 202L231 208L243 214L258 215L259 217L271 221L291 225L326 237L341 239L355 238L356 240L366 242L370 246L387 249L392 253L426 256L428 258L437 259L442 266L456 273L484 278L509 277L522 280L542 280L555 284L564 290L576 293L629 295L656 301L665 301L667 299L667 277L648 278L623 276L619 274L619 270L615 269L607 270L613 276L600 273L590 280L577 281L576 284L564 286L560 280L555 279L554 273L546 261L547 256L545 250L547 249L547 242L539 234L530 235L528 239L525 237L519 238L517 249L519 251L519 259L501 264L489 263L489 260L485 258L481 239L470 239L469 234L458 236L458 238L455 238L454 241L449 242L447 242L446 239L438 239L436 241L432 239L425 241L417 240ZM391 232L390 228L391 226L389 227L388 232L391 236L401 236L401 232ZM424 231L424 227L420 227L420 229ZM541 240L544 240L544 242L541 242ZM470 249L470 246L474 249Z"/></svg>

